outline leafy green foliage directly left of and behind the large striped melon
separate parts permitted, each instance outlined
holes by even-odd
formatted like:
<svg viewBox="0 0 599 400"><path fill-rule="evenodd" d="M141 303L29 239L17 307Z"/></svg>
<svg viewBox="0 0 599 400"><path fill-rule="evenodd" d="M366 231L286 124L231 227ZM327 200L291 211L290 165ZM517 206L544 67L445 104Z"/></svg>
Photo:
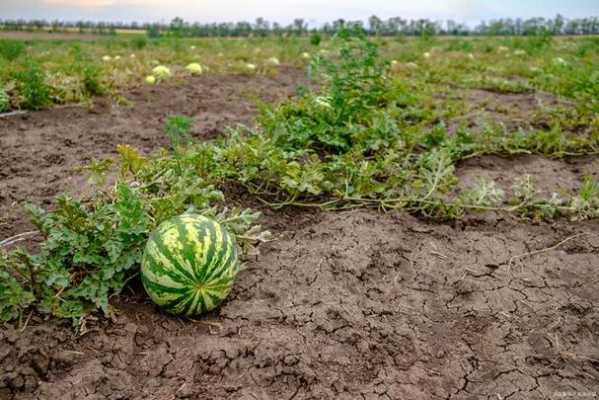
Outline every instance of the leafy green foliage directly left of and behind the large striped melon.
<svg viewBox="0 0 599 400"><path fill-rule="evenodd" d="M168 153L147 159L125 145L119 153L114 190L85 201L61 196L52 212L28 206L44 241L36 254L1 253L3 320L20 318L31 307L76 325L95 310L110 314L109 298L138 273L150 232L185 211L215 218L244 246L265 238L255 225L258 214L219 205L219 190L193 169L181 168L188 160ZM94 163L89 171L104 175L109 169L110 163Z"/></svg>

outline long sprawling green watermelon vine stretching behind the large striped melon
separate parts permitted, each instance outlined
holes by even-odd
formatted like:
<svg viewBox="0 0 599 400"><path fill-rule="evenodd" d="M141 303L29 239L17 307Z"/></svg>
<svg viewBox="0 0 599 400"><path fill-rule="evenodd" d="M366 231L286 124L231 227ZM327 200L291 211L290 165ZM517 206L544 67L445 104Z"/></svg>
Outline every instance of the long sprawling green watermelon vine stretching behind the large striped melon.
<svg viewBox="0 0 599 400"><path fill-rule="evenodd" d="M258 213L227 208L223 188L230 185L275 208L377 207L437 219L477 210L530 219L599 217L599 184L590 177L575 193L545 198L530 176L507 196L484 180L457 192L455 175L458 162L485 154L598 154L596 129L572 135L559 126L513 133L489 126L450 135L438 121L425 127L430 116L414 88L394 79L373 43L349 31L336 40L338 52L316 57L311 67L319 89L264 106L255 129L192 143L189 121L170 119L173 151L142 156L119 146L118 171L110 160L87 167L98 187L94 197L59 197L52 212L29 207L43 241L33 253L0 251L0 319L35 311L78 326L90 313L109 315L110 297L139 272L150 232L186 211L222 223L242 252L265 240ZM115 173L116 184L106 187Z"/></svg>

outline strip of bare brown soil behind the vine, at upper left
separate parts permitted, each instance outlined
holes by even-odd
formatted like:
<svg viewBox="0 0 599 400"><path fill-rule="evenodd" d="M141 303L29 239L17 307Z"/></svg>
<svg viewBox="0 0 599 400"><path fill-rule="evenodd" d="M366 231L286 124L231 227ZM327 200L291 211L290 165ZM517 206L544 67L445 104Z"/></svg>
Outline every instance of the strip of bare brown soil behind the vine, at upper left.
<svg viewBox="0 0 599 400"><path fill-rule="evenodd" d="M31 228L23 202L49 206L58 194L84 190L77 168L114 157L118 144L146 153L168 146L163 128L169 115L193 117L193 136L211 139L227 127L251 125L256 99L280 101L306 83L305 73L291 67L268 77L205 75L184 84L133 89L128 106L97 99L90 108L0 118L0 238Z"/></svg>

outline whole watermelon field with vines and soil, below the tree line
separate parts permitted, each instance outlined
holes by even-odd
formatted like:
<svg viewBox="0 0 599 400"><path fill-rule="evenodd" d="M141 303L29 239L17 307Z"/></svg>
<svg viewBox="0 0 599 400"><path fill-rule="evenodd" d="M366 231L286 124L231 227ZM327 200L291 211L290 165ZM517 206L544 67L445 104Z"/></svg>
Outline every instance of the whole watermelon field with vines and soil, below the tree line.
<svg viewBox="0 0 599 400"><path fill-rule="evenodd" d="M46 36L0 39L0 399L599 396L597 37ZM230 293L166 295L184 242Z"/></svg>

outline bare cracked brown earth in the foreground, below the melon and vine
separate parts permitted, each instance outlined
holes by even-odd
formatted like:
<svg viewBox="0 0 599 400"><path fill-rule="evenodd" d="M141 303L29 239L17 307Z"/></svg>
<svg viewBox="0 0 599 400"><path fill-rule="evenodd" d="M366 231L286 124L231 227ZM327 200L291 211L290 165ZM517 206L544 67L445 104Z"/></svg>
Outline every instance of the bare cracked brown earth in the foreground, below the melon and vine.
<svg viewBox="0 0 599 400"><path fill-rule="evenodd" d="M141 295L114 321L0 336L14 399L547 399L599 391L597 223L304 215L198 321ZM559 249L550 247L580 235ZM563 396L559 398L564 398Z"/></svg>

